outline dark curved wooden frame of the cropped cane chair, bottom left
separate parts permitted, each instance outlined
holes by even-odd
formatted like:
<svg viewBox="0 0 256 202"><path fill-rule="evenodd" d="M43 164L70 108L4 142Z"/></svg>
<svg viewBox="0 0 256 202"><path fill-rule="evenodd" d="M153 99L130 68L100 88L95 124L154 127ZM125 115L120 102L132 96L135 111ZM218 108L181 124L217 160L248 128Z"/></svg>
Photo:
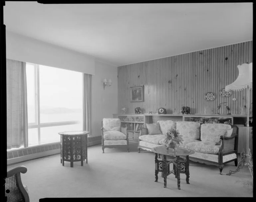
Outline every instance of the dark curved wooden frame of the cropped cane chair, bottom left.
<svg viewBox="0 0 256 202"><path fill-rule="evenodd" d="M29 202L29 195L28 195L28 192L26 191L26 189L24 188L23 184L22 184L22 181L21 181L21 175L20 173L26 173L27 172L27 168L25 166L19 166L19 167L16 167L16 168L13 168L11 170L9 170L7 172L7 177L11 177L13 175L17 175L17 185L22 193L22 197L23 197L23 200L25 202Z"/></svg>

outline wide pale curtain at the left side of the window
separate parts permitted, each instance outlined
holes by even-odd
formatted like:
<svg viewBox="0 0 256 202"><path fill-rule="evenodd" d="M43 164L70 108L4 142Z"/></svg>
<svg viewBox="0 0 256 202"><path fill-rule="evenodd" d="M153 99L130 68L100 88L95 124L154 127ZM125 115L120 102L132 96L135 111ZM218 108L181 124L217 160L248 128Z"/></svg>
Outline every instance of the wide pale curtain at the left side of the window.
<svg viewBox="0 0 256 202"><path fill-rule="evenodd" d="M26 147L28 140L26 63L6 60L7 149Z"/></svg>

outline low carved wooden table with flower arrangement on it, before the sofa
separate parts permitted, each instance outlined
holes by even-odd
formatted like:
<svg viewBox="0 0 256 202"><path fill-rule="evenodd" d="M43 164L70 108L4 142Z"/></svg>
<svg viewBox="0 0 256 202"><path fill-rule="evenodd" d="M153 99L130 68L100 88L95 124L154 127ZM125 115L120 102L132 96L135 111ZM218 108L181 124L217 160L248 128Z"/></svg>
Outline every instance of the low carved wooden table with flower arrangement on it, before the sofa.
<svg viewBox="0 0 256 202"><path fill-rule="evenodd" d="M158 172L162 172L164 178L164 187L166 187L166 178L170 174L174 174L178 181L178 189L181 189L181 178L180 173L186 173L186 181L189 184L189 155L193 154L194 151L178 147L176 151L173 149L166 150L165 146L154 147L151 151L155 152L155 177L157 182ZM158 160L158 154L162 154L162 160ZM172 159L166 158L166 156L174 157ZM180 158L181 156L181 158ZM173 170L170 171L170 163L173 163Z"/></svg>

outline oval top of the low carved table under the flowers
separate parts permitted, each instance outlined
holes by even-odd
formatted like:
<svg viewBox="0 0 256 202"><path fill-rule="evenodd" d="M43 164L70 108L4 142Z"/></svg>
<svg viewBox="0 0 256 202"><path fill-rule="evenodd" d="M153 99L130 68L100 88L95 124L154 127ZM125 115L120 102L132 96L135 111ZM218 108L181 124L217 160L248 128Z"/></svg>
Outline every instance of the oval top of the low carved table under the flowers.
<svg viewBox="0 0 256 202"><path fill-rule="evenodd" d="M169 155L169 156L187 156L187 155L191 155L194 153L194 151L191 151L189 149L185 149L182 147L178 147L176 149L176 151L174 151L171 148L169 148L169 150L167 150L164 145L154 147L151 149L151 151L158 153L158 154Z"/></svg>

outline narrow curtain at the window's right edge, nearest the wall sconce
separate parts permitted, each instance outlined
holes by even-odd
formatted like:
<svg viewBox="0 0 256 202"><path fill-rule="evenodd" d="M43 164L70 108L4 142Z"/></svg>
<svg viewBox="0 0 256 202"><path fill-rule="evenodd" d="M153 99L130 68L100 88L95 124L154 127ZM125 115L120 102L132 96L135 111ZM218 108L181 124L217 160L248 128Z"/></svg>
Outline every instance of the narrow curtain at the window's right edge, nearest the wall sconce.
<svg viewBox="0 0 256 202"><path fill-rule="evenodd" d="M91 125L91 74L83 74L83 130L92 135Z"/></svg>

